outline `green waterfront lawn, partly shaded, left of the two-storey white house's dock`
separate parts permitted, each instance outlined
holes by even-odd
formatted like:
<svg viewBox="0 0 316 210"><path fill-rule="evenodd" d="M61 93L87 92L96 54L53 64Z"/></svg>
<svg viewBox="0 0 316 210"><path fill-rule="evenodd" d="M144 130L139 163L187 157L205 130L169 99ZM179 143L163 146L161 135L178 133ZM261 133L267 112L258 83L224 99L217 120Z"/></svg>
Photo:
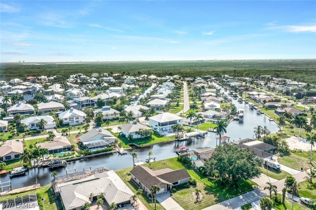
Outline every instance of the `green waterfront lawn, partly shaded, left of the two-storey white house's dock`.
<svg viewBox="0 0 316 210"><path fill-rule="evenodd" d="M121 140L124 144L128 145L134 143L138 146L146 146L155 143L167 142L170 140L174 140L174 137L162 137L157 132L154 132L152 138L144 138L144 139L135 139L135 140L128 140L125 136L120 136L116 134L116 137Z"/></svg>

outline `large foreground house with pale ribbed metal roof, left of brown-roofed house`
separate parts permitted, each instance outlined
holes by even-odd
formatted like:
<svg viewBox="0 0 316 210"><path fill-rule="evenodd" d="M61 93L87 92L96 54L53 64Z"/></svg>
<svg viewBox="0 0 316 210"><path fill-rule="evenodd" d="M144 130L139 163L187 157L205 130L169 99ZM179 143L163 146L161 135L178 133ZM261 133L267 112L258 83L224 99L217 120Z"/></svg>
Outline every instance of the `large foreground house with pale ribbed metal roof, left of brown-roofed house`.
<svg viewBox="0 0 316 210"><path fill-rule="evenodd" d="M90 194L96 200L102 193L108 204L115 203L118 207L134 202L131 198L134 193L114 171L60 183L57 188L65 210L81 210L85 203L91 204Z"/></svg>

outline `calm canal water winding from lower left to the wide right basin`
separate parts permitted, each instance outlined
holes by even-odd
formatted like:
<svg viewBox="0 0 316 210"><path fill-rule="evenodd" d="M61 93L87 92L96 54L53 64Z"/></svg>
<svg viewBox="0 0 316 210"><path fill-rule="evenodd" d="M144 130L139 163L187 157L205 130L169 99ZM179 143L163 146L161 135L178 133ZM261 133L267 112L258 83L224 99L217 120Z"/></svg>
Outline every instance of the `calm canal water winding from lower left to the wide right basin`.
<svg viewBox="0 0 316 210"><path fill-rule="evenodd" d="M227 127L227 133L224 136L230 137L231 141L246 138L254 138L254 128L258 125L262 127L267 126L271 133L276 133L277 125L273 121L269 121L268 117L267 120L264 120L265 115L261 114L258 115L256 110L249 109L248 105L239 104L237 100L233 100L233 103L237 106L237 109L243 108L244 109L244 121L243 123L239 123L238 121L232 121ZM65 175L66 169L70 169L75 167L77 171L95 169L98 167L107 167L110 170L118 170L127 167L131 167L133 165L132 156L130 155L131 151L135 151L138 155L139 161L145 162L145 159L148 158L149 151L153 151L154 155L151 157L155 157L156 160L162 160L166 158L176 157L176 153L174 152L179 146L185 146L189 149L195 149L198 147L216 147L216 140L215 138L218 137L215 133L209 132L205 135L203 140L194 140L192 142L168 142L162 144L156 144L144 148L137 148L135 146L132 147L132 150L127 152L127 155L119 155L118 153L113 153L104 156L98 156L89 158L86 160L78 160L74 162L68 163L67 167L54 169L58 175ZM52 177L51 173L53 172L48 168L40 168L40 169L33 169L30 170L26 175L12 177L12 188L17 189L29 185L33 185L36 182L40 183L41 186L47 185L51 182ZM0 177L0 181L8 181L10 179L9 175L2 175Z"/></svg>

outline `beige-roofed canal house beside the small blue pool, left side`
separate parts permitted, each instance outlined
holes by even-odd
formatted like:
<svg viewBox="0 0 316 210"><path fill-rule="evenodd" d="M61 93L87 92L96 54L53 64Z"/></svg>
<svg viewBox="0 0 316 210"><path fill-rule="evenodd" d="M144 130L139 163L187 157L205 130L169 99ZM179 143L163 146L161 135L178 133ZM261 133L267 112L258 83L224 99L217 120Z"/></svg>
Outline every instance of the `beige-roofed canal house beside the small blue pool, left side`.
<svg viewBox="0 0 316 210"><path fill-rule="evenodd" d="M53 141L45 141L37 143L36 146L46 148L49 154L55 154L60 152L71 152L71 143L67 137L61 136L55 138Z"/></svg>

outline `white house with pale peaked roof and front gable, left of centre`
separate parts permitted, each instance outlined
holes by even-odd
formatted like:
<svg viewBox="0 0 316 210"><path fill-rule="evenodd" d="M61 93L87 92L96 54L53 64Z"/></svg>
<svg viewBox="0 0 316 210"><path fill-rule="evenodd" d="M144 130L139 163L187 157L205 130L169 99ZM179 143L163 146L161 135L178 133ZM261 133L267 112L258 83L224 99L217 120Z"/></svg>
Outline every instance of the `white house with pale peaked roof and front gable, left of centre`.
<svg viewBox="0 0 316 210"><path fill-rule="evenodd" d="M73 107L59 114L59 119L63 120L63 124L80 125L84 123L87 115L83 111L74 109Z"/></svg>

